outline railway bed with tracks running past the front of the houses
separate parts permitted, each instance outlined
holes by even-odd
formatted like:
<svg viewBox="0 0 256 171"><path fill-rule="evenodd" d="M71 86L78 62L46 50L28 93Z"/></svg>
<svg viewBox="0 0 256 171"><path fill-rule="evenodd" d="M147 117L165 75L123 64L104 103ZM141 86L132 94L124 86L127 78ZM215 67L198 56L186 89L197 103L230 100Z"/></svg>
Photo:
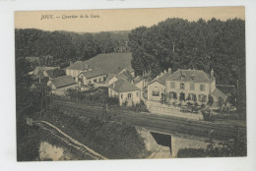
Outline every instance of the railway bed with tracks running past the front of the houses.
<svg viewBox="0 0 256 171"><path fill-rule="evenodd" d="M72 113L78 116L97 116L100 118L103 113L102 106L82 105L59 100L54 100L53 105L60 107L66 114ZM238 135L246 135L246 127L242 126L193 121L147 112L125 111L115 106L109 107L106 116L110 121L125 122L136 127L146 128L152 132L204 142L209 139L210 132L212 132L211 137L219 141L230 140Z"/></svg>

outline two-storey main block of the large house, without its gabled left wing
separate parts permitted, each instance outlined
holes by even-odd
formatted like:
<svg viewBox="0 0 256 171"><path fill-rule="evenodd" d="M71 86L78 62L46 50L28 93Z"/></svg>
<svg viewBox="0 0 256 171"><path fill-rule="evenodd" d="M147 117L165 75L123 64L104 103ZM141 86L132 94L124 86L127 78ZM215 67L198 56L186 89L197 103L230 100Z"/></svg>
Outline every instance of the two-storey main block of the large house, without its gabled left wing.
<svg viewBox="0 0 256 171"><path fill-rule="evenodd" d="M207 104L210 96L214 103L220 98L226 100L226 95L216 87L214 71L211 75L202 70L179 69L165 80L165 96L167 101L196 101Z"/></svg>

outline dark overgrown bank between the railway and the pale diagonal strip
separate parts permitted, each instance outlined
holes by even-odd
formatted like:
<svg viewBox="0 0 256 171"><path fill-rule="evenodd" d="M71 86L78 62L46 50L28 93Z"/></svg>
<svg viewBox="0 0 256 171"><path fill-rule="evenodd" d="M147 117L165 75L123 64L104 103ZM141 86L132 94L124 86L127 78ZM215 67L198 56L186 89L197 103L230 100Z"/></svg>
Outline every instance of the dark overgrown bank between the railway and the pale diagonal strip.
<svg viewBox="0 0 256 171"><path fill-rule="evenodd" d="M124 123L103 122L73 114L65 115L55 108L42 118L67 135L110 159L145 158L149 152L136 129Z"/></svg>

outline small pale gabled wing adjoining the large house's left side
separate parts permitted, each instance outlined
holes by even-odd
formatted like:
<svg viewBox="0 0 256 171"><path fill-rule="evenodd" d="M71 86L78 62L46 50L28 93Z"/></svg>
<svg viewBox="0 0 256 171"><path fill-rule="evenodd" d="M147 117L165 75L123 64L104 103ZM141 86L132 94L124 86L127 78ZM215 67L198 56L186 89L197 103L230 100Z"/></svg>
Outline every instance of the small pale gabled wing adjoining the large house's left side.
<svg viewBox="0 0 256 171"><path fill-rule="evenodd" d="M165 94L165 80L168 76L171 75L171 70L168 69L168 72L164 71L157 76L151 83L148 85L148 100L160 101L164 100Z"/></svg>

